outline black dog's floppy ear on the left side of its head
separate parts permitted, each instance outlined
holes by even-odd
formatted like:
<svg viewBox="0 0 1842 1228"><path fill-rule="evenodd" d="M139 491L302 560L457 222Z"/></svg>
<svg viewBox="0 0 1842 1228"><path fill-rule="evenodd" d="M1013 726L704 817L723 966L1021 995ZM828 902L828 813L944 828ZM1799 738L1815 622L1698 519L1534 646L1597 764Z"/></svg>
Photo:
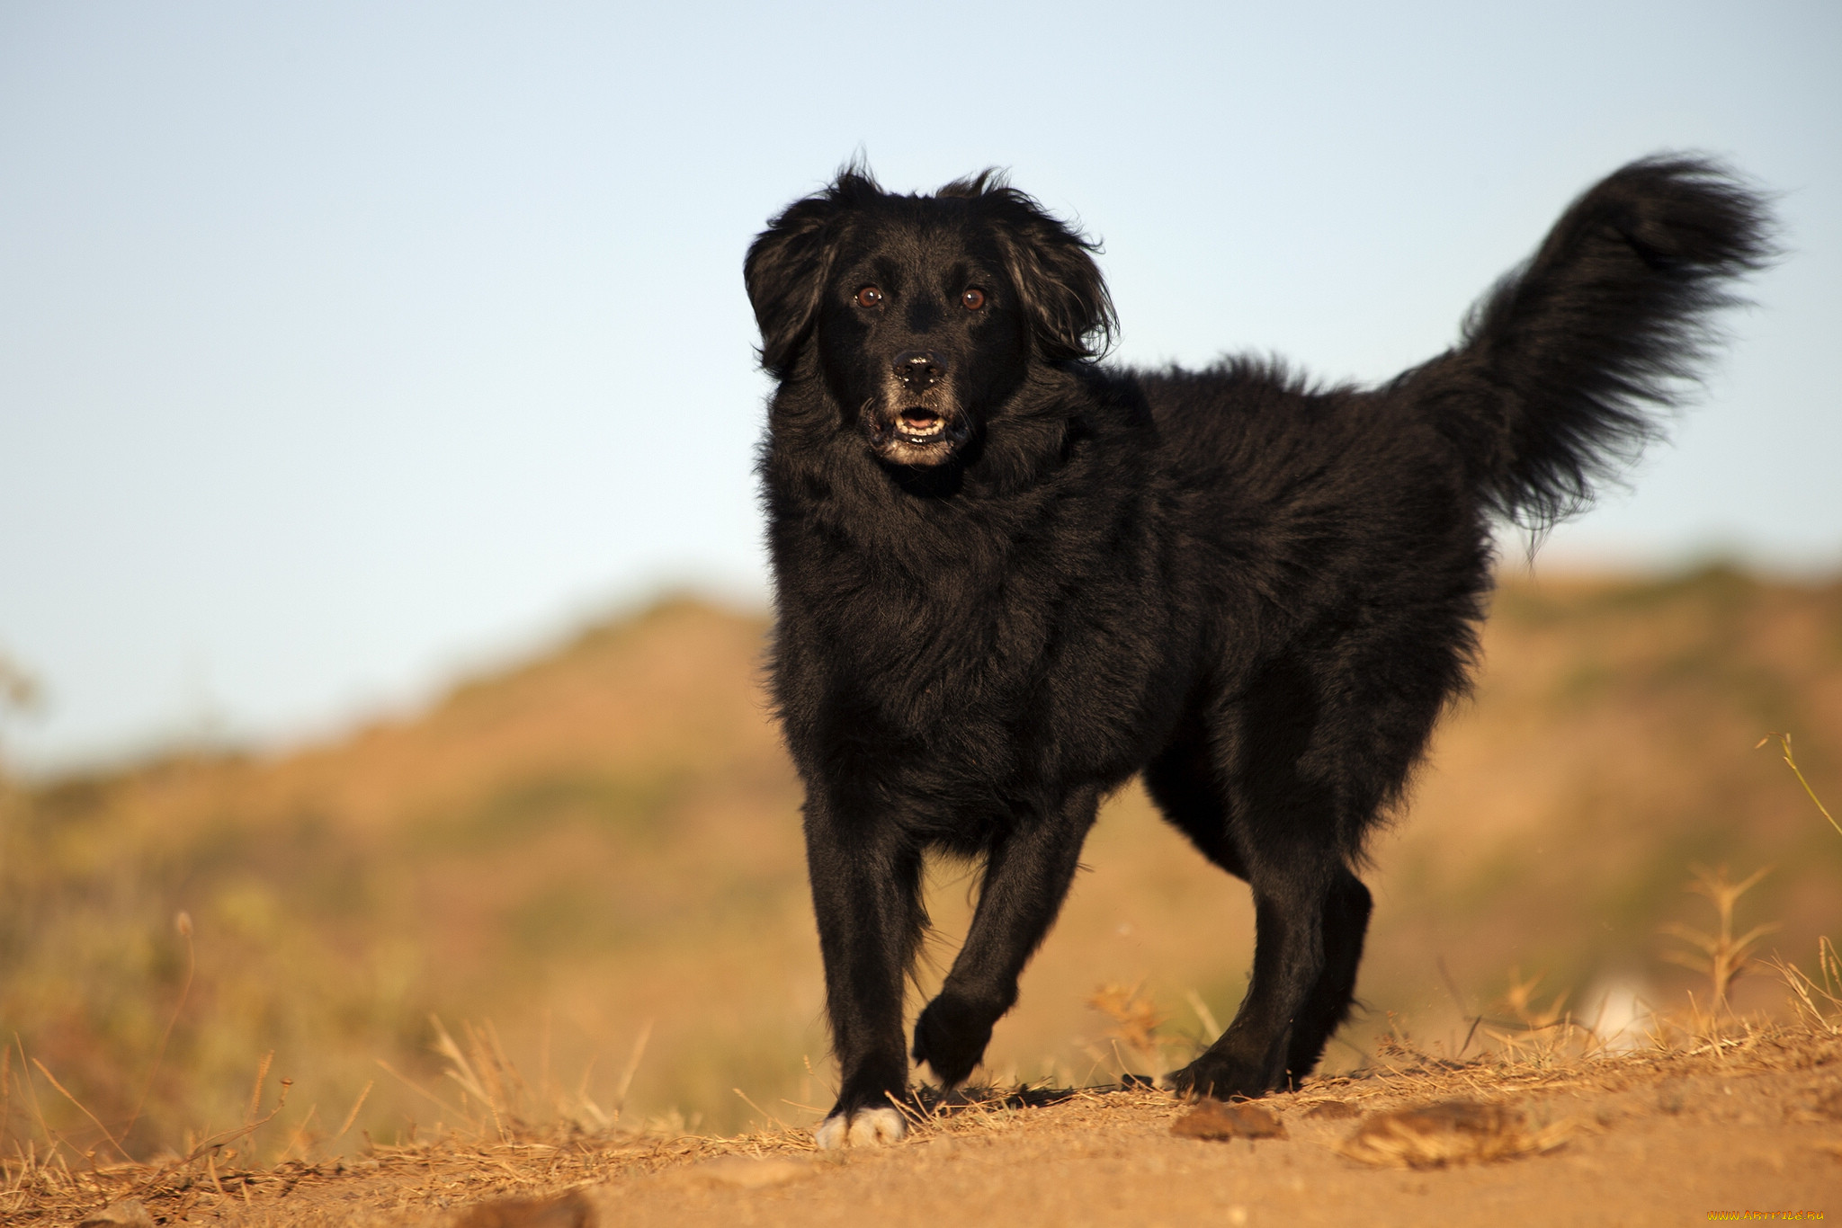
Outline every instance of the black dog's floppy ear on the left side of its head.
<svg viewBox="0 0 1842 1228"><path fill-rule="evenodd" d="M862 197L882 190L869 171L851 164L829 188L788 204L748 245L742 278L761 326L761 366L787 379L799 357L838 245L838 219Z"/></svg>

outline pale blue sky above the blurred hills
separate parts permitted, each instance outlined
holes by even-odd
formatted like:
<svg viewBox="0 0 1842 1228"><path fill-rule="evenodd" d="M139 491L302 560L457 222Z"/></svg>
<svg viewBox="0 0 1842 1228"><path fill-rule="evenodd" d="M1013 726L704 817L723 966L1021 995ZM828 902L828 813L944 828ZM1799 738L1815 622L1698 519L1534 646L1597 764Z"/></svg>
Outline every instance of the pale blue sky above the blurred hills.
<svg viewBox="0 0 1842 1228"><path fill-rule="evenodd" d="M1125 361L1382 379L1617 164L1785 193L1544 567L1842 560L1842 6L0 4L0 652L39 768L761 600L750 236L862 147L1103 236Z"/></svg>

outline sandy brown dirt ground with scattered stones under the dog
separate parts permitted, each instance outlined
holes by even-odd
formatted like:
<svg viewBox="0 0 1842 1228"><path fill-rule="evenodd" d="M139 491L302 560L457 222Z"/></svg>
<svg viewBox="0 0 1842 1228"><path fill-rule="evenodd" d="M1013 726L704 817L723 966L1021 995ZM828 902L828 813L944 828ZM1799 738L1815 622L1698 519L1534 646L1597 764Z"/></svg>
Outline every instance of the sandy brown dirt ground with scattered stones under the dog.
<svg viewBox="0 0 1842 1228"><path fill-rule="evenodd" d="M1829 1029L1464 1064L1404 1049L1258 1108L1271 1112L1254 1123L1265 1138L1181 1136L1172 1127L1192 1106L1133 1086L1046 1106L974 1105L917 1123L901 1145L845 1153L814 1151L805 1123L740 1138L547 1141L501 1123L499 1141L449 1134L258 1173L210 1151L92 1171L13 1162L0 1221L1070 1228L1842 1217L1842 1035Z"/></svg>

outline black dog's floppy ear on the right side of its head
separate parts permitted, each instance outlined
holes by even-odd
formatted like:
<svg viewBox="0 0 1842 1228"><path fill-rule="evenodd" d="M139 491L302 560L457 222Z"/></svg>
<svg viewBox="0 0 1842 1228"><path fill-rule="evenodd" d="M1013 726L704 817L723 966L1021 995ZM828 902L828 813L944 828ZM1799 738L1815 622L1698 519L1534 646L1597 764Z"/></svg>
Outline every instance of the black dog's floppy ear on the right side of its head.
<svg viewBox="0 0 1842 1228"><path fill-rule="evenodd" d="M1118 317L1107 280L1094 263L1096 239L1081 236L993 171L947 184L939 195L969 197L997 223L1006 272L1044 359L1092 359L1107 352Z"/></svg>

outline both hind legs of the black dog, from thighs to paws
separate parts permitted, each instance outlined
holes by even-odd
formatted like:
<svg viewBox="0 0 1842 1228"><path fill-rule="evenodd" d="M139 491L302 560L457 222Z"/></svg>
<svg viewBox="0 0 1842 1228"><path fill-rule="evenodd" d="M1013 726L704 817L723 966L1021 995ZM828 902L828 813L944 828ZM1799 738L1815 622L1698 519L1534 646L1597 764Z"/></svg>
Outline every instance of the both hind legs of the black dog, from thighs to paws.
<svg viewBox="0 0 1842 1228"><path fill-rule="evenodd" d="M1179 1090L1295 1084L1348 1016L1370 911L1350 865L1464 687L1485 556L1455 560L1435 600L1267 663L1148 770L1166 816L1254 895L1253 983L1227 1033L1172 1075Z"/></svg>

